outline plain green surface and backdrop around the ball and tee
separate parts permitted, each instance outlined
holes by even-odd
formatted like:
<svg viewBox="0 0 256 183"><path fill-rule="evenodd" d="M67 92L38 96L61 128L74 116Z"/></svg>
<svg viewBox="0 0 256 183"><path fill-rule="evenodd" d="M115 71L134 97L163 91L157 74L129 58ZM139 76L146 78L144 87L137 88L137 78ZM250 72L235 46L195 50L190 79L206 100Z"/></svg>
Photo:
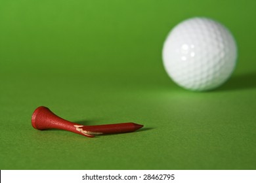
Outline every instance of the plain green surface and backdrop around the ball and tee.
<svg viewBox="0 0 256 183"><path fill-rule="evenodd" d="M0 169L256 169L256 1L0 1ZM238 43L211 92L167 76L161 49L207 16ZM41 105L85 125L137 122L93 139L31 125Z"/></svg>

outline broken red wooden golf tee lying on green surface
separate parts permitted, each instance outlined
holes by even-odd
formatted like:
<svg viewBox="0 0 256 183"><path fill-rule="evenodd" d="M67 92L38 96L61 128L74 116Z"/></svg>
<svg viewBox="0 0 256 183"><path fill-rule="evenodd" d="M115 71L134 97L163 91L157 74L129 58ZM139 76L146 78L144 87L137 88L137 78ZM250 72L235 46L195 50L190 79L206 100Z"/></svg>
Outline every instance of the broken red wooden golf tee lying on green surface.
<svg viewBox="0 0 256 183"><path fill-rule="evenodd" d="M51 112L47 107L37 107L32 114L32 126L35 129L63 129L86 136L95 137L110 133L133 132L143 127L135 123L107 124L107 125L80 125L64 120Z"/></svg>

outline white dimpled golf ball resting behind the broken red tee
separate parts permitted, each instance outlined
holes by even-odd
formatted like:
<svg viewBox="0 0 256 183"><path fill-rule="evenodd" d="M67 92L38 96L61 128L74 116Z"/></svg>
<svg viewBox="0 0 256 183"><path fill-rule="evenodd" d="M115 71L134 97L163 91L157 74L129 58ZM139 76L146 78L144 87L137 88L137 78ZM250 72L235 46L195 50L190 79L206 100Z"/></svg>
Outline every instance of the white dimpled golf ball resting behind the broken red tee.
<svg viewBox="0 0 256 183"><path fill-rule="evenodd" d="M237 48L224 25L190 18L171 30L163 44L163 65L179 86L205 91L221 86L234 71Z"/></svg>

